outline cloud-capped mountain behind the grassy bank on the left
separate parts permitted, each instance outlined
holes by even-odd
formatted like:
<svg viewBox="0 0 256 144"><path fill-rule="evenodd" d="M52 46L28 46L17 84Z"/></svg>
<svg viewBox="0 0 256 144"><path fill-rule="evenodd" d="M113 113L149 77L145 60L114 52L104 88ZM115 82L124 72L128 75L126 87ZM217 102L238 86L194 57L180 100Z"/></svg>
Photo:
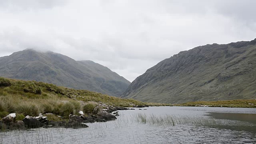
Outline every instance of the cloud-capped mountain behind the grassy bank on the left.
<svg viewBox="0 0 256 144"><path fill-rule="evenodd" d="M130 82L90 60L76 61L54 52L26 49L0 58L0 76L36 80L120 96Z"/></svg>

